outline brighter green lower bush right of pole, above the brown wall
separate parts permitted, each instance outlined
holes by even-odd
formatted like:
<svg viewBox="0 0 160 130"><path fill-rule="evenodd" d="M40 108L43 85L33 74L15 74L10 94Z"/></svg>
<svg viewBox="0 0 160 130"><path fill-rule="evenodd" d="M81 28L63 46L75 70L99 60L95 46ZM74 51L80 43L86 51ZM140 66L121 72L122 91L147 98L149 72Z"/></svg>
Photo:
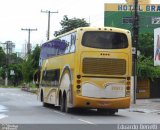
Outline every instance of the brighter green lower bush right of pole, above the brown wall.
<svg viewBox="0 0 160 130"><path fill-rule="evenodd" d="M137 75L140 79L151 79L160 77L160 67L155 67L151 57L140 55L137 62Z"/></svg>

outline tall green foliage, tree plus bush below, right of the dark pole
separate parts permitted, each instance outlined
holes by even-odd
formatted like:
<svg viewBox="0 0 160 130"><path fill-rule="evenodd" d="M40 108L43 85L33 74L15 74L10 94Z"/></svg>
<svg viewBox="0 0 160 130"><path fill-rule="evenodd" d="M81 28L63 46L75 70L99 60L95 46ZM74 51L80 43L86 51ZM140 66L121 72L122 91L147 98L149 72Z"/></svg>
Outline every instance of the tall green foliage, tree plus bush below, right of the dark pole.
<svg viewBox="0 0 160 130"><path fill-rule="evenodd" d="M141 53L137 62L138 78L154 80L160 77L160 67L155 67L153 61L154 37L152 33L139 35L138 50Z"/></svg>

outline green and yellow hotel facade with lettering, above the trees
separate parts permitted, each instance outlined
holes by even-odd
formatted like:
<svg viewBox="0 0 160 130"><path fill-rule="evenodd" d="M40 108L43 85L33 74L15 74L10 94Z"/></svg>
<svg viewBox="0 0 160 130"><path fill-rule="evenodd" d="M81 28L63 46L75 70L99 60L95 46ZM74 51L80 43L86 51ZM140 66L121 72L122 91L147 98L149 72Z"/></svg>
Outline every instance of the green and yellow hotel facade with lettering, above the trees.
<svg viewBox="0 0 160 130"><path fill-rule="evenodd" d="M154 32L160 26L160 4L151 4L151 0L138 1L139 32ZM113 26L132 31L134 0L126 3L104 5L104 26Z"/></svg>

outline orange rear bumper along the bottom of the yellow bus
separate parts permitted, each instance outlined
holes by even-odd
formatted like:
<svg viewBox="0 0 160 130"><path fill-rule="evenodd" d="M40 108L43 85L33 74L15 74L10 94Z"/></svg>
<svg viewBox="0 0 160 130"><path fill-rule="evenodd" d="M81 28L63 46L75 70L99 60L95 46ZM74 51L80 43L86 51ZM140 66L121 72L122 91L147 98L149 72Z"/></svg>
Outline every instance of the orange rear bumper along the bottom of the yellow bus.
<svg viewBox="0 0 160 130"><path fill-rule="evenodd" d="M78 108L105 108L105 109L125 109L130 107L130 97L115 99L99 99L76 96L74 107Z"/></svg>

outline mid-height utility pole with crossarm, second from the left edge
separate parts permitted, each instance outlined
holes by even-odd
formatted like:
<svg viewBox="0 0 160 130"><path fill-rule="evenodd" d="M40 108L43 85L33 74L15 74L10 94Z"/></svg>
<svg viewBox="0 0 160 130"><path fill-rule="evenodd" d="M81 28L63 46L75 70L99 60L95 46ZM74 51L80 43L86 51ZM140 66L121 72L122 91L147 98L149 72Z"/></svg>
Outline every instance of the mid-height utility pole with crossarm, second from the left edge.
<svg viewBox="0 0 160 130"><path fill-rule="evenodd" d="M30 28L21 28L22 31L28 31L28 43L27 43L27 54L31 53L31 43L30 43L30 33L31 31L37 31L36 29L30 29Z"/></svg>

